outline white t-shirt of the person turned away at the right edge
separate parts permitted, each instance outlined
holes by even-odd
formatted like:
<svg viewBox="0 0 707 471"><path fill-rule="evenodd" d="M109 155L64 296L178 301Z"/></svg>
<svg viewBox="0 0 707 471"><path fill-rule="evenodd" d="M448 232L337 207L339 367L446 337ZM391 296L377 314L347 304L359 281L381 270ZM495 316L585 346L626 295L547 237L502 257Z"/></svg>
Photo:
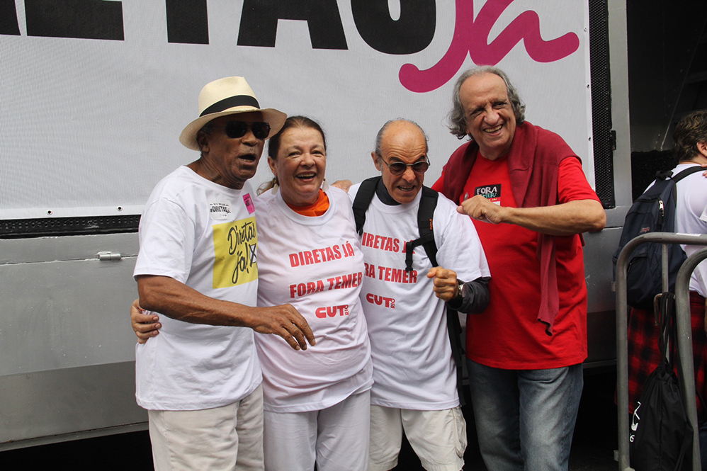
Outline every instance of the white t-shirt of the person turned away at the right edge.
<svg viewBox="0 0 707 471"><path fill-rule="evenodd" d="M677 175L684 169L697 164L679 164L673 169ZM677 182L677 206L675 212L675 230L683 234L707 234L707 179L702 172L688 175ZM703 246L683 245L687 256L694 254ZM707 293L707 260L702 261L690 278L690 290L701 296Z"/></svg>

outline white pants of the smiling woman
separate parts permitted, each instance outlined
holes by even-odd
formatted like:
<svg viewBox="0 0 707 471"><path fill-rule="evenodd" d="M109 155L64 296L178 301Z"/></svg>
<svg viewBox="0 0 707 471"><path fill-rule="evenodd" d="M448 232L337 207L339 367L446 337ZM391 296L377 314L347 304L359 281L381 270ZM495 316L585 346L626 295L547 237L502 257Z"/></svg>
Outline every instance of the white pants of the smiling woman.
<svg viewBox="0 0 707 471"><path fill-rule="evenodd" d="M366 471L371 391L311 412L264 412L268 471Z"/></svg>

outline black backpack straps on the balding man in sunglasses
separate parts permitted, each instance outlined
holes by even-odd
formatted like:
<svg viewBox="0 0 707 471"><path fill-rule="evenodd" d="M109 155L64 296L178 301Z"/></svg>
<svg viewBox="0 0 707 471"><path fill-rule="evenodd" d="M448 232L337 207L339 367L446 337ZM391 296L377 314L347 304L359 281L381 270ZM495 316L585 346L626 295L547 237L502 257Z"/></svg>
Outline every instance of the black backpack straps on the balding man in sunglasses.
<svg viewBox="0 0 707 471"><path fill-rule="evenodd" d="M356 192L356 198L353 198L353 217L356 220L356 232L359 235L363 234L363 224L366 222L366 210L371 205L375 187L378 186L380 176L366 178L361 182L361 186ZM417 210L417 230L420 237L405 244L405 270L412 271L412 251L415 247L422 245L432 266L437 264L437 245L434 243L434 230L432 229L432 219L434 216L434 208L437 207L437 198L439 193L426 186L422 187L422 198L420 199L419 209ZM462 378L464 345L461 340L461 325L459 323L459 314L456 310L447 306L447 331L449 341L452 346L452 356L457 370L457 391L461 405L465 404Z"/></svg>

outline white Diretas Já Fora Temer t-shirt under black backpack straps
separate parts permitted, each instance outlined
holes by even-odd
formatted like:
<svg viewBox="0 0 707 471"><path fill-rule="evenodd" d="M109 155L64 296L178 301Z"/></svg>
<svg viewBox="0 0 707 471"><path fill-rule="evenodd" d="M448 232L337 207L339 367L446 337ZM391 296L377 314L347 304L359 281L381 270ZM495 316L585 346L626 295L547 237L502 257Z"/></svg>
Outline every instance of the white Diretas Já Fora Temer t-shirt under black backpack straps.
<svg viewBox="0 0 707 471"><path fill-rule="evenodd" d="M360 185L349 190L351 200ZM422 246L414 250L412 273L405 272L405 242L417 239L412 203L386 205L373 196L363 225L361 302L373 358L371 404L415 410L459 405L456 370L447 332L445 303L434 295L432 264ZM486 256L469 217L439 195L433 217L437 262L463 281L490 276Z"/></svg>

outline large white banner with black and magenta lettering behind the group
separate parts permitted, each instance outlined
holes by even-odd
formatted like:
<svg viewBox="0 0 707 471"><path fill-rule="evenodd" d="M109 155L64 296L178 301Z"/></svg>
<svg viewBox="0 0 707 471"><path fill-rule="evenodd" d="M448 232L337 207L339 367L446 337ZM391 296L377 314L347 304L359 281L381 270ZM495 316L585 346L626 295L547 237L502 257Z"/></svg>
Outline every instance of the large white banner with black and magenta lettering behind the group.
<svg viewBox="0 0 707 471"><path fill-rule="evenodd" d="M329 181L373 175L380 126L416 121L431 184L462 143L454 80L497 65L593 183L588 26L564 0L0 0L0 220L139 214L198 158L178 136L201 87L232 75L322 123Z"/></svg>

